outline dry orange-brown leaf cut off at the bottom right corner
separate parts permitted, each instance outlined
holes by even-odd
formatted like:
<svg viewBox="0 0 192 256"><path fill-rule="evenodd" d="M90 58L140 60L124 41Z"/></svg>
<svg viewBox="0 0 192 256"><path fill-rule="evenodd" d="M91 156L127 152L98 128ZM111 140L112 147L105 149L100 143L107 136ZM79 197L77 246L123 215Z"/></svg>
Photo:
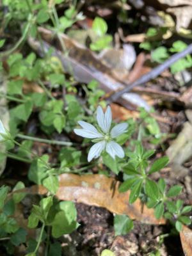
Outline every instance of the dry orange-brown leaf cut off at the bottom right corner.
<svg viewBox="0 0 192 256"><path fill-rule="evenodd" d="M184 251L184 255L191 256L192 255L192 230L186 226L183 226L182 231L180 232L180 241L182 244L182 250Z"/></svg>

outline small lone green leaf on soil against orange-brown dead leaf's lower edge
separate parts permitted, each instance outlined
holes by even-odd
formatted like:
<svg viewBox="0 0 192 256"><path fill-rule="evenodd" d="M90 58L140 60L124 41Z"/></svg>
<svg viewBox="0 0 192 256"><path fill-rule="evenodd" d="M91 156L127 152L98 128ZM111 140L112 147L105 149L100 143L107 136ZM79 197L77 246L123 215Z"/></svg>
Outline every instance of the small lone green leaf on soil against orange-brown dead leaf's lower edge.
<svg viewBox="0 0 192 256"><path fill-rule="evenodd" d="M126 235L133 228L133 222L127 215L115 215L115 236Z"/></svg>

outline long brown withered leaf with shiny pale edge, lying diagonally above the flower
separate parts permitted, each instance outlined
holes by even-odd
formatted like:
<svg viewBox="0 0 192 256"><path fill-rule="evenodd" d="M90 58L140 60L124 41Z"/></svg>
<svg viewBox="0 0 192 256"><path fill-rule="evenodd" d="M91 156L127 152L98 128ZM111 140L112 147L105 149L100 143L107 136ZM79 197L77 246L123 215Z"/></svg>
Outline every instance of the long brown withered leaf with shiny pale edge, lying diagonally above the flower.
<svg viewBox="0 0 192 256"><path fill-rule="evenodd" d="M121 81L120 77L115 76L113 70L104 65L104 63L99 60L98 56L90 51L90 49L78 44L65 34L60 35L59 40L49 29L40 27L38 31L43 39L42 44L33 38L29 38L29 45L31 45L40 56L43 56L44 52L49 51L52 47L54 50L52 51L52 55L56 56L61 61L65 72L74 76L77 81L89 83L95 79L99 82L100 88L107 93L120 90L120 88L127 86L127 84ZM62 45L65 52L62 52L61 42L63 42ZM44 52L42 51L42 45L44 46ZM119 102L127 108L133 105L143 107L147 110L150 109L147 102L136 93L124 93L122 98L119 99Z"/></svg>

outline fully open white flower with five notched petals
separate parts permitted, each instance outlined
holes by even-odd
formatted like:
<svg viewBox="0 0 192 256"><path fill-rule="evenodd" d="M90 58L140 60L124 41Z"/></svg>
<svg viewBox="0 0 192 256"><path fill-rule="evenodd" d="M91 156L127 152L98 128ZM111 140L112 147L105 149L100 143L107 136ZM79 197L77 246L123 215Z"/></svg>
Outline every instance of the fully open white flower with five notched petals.
<svg viewBox="0 0 192 256"><path fill-rule="evenodd" d="M102 111L99 106L97 108L97 123L99 124L100 131L98 131L92 124L88 124L84 121L79 121L82 129L74 129L74 132L84 138L97 139L88 153L88 162L92 161L93 158L100 156L103 150L106 150L108 154L115 159L115 156L123 158L125 156L123 148L118 145L114 138L127 131L128 124L122 123L115 125L111 129L112 113L111 108L108 106L106 113Z"/></svg>

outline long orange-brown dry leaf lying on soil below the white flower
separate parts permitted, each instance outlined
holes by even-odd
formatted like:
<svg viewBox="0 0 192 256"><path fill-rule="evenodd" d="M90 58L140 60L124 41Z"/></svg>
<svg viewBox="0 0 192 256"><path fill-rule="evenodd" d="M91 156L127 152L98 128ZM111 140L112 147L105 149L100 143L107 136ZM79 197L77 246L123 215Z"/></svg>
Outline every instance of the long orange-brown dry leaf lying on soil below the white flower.
<svg viewBox="0 0 192 256"><path fill-rule="evenodd" d="M60 200L70 200L87 205L104 207L115 214L127 214L130 218L152 225L164 224L165 220L157 220L153 209L148 209L138 199L129 204L129 191L119 193L120 182L100 174L76 175L63 173L60 175L60 188L56 196ZM47 189L43 186L32 186L30 193L44 195Z"/></svg>

